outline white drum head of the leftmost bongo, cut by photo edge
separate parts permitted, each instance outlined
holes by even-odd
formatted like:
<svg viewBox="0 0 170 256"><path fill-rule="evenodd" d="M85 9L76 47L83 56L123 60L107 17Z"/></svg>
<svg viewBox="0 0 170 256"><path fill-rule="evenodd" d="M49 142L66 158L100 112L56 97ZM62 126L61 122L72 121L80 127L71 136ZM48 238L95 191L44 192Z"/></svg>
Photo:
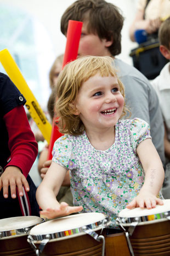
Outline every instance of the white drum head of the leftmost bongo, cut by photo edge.
<svg viewBox="0 0 170 256"><path fill-rule="evenodd" d="M43 219L37 216L19 216L0 220L0 232L19 230L41 223Z"/></svg>

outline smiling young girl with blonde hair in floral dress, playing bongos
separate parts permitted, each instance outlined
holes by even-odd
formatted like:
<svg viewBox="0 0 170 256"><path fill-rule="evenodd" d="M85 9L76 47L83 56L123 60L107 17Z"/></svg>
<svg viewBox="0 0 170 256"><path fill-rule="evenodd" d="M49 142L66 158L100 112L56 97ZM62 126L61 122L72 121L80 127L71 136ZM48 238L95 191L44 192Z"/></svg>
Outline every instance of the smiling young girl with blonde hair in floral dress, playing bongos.
<svg viewBox="0 0 170 256"><path fill-rule="evenodd" d="M60 132L53 162L37 189L37 201L48 219L76 211L110 217L123 208L148 209L163 204L157 195L164 170L152 144L149 126L127 113L124 88L111 57L82 57L59 75L55 110ZM56 194L70 170L73 204L59 204ZM144 179L145 174L145 179Z"/></svg>

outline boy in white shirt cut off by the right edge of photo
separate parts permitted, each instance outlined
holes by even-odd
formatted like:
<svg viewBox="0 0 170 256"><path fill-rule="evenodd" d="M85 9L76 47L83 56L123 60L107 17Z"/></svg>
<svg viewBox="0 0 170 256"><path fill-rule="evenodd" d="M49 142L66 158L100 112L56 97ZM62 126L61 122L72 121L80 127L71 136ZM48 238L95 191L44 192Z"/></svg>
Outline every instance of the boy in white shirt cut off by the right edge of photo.
<svg viewBox="0 0 170 256"><path fill-rule="evenodd" d="M170 17L167 18L160 26L158 31L158 37L160 40L160 52L166 59L170 59ZM165 155L167 157L166 165L166 177L163 184L163 194L165 198L170 198L170 63L167 63L161 70L160 75L152 81L163 115L163 121L165 125Z"/></svg>

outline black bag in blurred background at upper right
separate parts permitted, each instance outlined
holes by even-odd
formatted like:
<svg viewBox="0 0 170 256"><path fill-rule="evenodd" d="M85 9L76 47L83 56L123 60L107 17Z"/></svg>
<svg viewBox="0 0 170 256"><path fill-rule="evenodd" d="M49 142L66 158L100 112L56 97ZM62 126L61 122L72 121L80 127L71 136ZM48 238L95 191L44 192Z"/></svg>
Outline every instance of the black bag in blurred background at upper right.
<svg viewBox="0 0 170 256"><path fill-rule="evenodd" d="M131 50L130 56L133 59L133 66L148 79L156 78L165 64L168 63L168 59L161 54L159 46L158 39L152 39Z"/></svg>

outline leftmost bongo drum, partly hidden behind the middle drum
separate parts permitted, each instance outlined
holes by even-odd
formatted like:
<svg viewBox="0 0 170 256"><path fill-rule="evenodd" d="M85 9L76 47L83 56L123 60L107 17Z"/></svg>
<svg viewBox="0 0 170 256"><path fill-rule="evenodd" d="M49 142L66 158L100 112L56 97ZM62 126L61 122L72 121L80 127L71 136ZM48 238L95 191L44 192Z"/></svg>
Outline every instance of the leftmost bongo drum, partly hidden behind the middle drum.
<svg viewBox="0 0 170 256"><path fill-rule="evenodd" d="M37 216L19 216L0 220L0 256L35 256L27 242L28 232L43 222Z"/></svg>

